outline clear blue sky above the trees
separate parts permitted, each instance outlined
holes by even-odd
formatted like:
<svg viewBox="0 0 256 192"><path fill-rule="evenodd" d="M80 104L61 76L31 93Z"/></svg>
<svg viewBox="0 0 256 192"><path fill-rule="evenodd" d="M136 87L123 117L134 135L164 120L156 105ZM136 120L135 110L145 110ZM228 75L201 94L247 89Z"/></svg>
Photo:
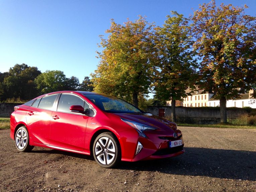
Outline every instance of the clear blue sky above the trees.
<svg viewBox="0 0 256 192"><path fill-rule="evenodd" d="M0 0L0 72L25 63L41 72L64 71L81 82L97 68L99 35L110 27L110 19L123 23L142 15L161 26L171 10L188 17L204 2L208 1ZM221 2L247 4L246 13L255 16L255 0L216 4Z"/></svg>

